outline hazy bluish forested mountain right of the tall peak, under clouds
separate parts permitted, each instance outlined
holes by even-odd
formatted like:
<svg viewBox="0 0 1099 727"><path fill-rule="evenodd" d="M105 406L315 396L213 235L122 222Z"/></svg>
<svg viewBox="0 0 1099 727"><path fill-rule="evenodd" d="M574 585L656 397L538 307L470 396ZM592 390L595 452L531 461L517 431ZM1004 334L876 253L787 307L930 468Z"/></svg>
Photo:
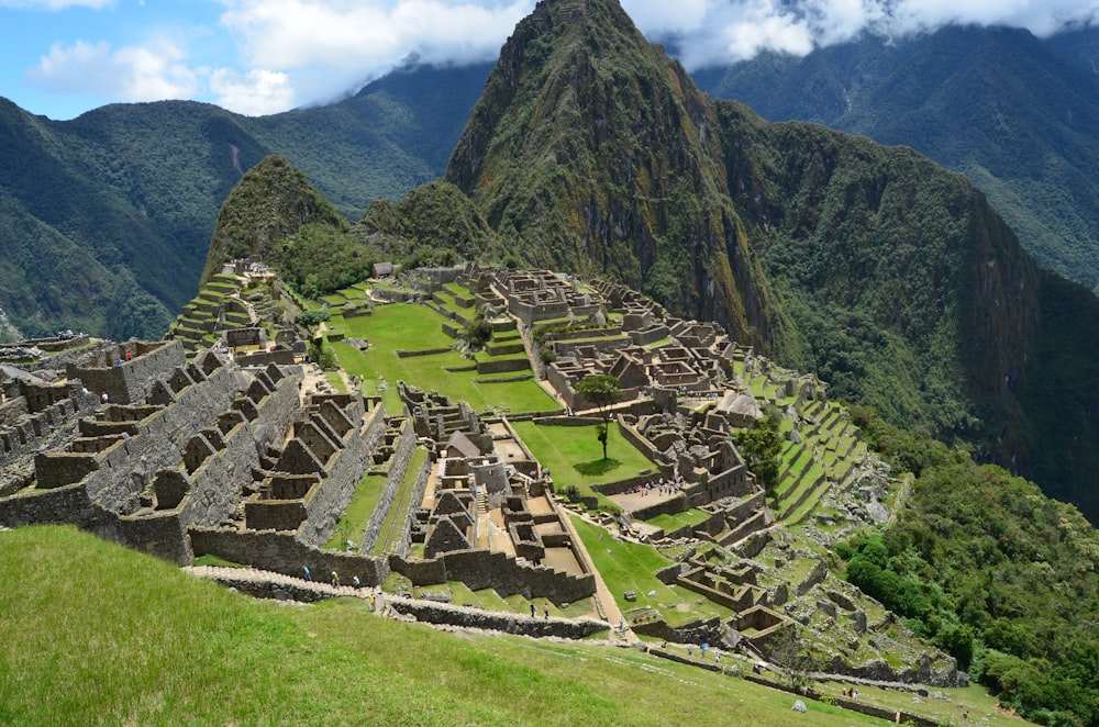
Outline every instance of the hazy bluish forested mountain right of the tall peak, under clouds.
<svg viewBox="0 0 1099 727"><path fill-rule="evenodd" d="M988 194L1042 267L1099 290L1099 29L1040 40L950 25L864 34L804 57L764 53L697 70L714 98L771 121L903 144Z"/></svg>

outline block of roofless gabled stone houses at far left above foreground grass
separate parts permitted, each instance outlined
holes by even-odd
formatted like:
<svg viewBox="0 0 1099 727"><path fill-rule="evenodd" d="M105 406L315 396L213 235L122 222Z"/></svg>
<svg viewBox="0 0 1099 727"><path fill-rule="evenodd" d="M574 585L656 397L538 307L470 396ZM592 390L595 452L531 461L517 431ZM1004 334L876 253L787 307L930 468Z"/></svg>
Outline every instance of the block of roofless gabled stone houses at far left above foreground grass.
<svg viewBox="0 0 1099 727"><path fill-rule="evenodd" d="M189 562L186 529L237 506L257 451L297 411L300 371L231 370L209 353L188 361L178 342L127 346L136 356L119 365L68 368L70 381L110 387L123 403L101 404L69 441L36 455L33 480L0 499L0 522L75 523Z"/></svg>

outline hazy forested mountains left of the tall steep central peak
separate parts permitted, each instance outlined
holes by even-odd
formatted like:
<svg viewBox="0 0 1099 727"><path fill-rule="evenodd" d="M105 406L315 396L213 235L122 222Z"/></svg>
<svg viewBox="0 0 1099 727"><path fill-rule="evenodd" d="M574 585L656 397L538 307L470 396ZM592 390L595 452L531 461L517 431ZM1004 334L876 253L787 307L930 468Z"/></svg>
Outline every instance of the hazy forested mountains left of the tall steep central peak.
<svg viewBox="0 0 1099 727"><path fill-rule="evenodd" d="M157 337L198 289L247 169L284 155L357 220L442 174L486 74L402 68L338 103L264 118L166 101L59 122L0 99L0 336Z"/></svg>

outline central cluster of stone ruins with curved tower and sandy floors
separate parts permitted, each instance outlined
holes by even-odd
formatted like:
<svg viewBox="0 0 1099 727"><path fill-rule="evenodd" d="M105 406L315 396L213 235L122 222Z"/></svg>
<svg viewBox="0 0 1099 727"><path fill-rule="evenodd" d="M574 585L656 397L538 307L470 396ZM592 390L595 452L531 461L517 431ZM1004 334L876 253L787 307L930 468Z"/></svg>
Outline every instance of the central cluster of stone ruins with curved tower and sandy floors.
<svg viewBox="0 0 1099 727"><path fill-rule="evenodd" d="M464 404L403 382L398 390L436 461L409 524L422 558L397 552L393 570L417 585L457 580L473 590L489 584L501 595L554 603L590 596L593 575L581 564L545 480L532 477L536 462L525 452L514 457L521 446L507 422L485 424ZM497 439L504 451L497 451Z"/></svg>

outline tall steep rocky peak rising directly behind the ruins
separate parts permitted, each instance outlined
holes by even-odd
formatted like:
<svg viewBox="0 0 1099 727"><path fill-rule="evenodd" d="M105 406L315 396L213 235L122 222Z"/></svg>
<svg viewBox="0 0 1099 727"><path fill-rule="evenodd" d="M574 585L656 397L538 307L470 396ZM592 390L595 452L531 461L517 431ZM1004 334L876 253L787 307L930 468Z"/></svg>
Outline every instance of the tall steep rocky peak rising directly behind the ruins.
<svg viewBox="0 0 1099 727"><path fill-rule="evenodd" d="M763 345L767 293L715 130L615 0L546 0L501 49L446 178L519 262L614 276Z"/></svg>

